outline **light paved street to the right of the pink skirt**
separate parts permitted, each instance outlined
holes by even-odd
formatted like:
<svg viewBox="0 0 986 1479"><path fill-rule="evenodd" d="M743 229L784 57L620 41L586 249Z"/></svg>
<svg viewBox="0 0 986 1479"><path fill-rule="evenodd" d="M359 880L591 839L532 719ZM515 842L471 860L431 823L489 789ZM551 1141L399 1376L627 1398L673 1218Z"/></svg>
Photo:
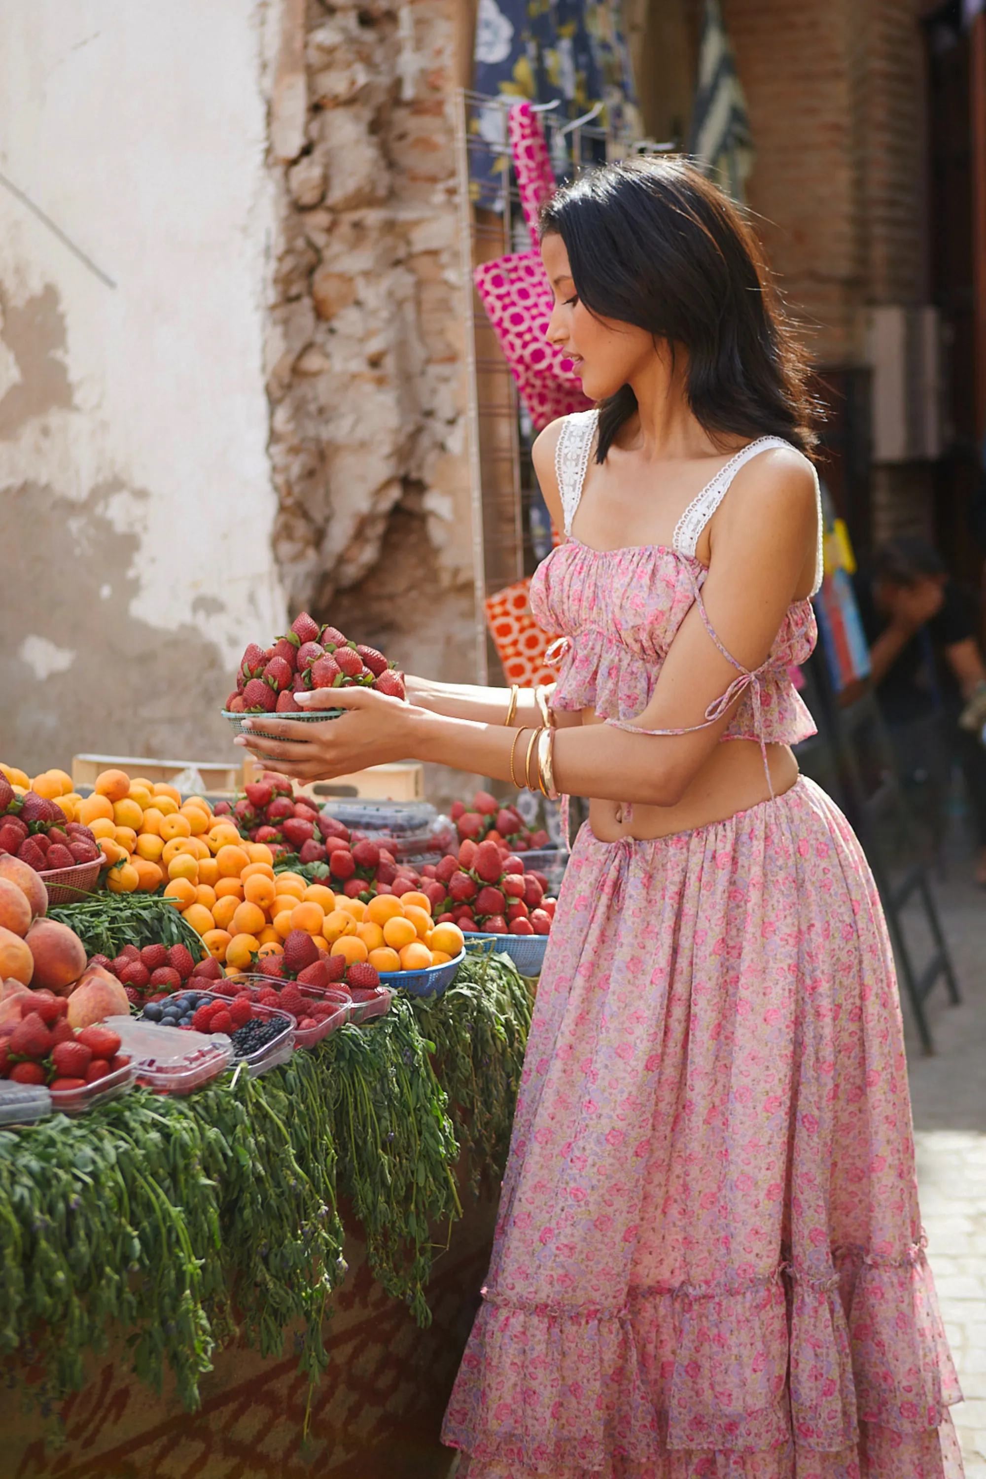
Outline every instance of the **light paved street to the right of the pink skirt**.
<svg viewBox="0 0 986 1479"><path fill-rule="evenodd" d="M965 1402L952 1409L967 1479L986 1479L986 892L952 856L934 892L962 988L928 1001L936 1055L922 1057L905 1001L921 1213ZM927 948L908 930L915 954Z"/></svg>

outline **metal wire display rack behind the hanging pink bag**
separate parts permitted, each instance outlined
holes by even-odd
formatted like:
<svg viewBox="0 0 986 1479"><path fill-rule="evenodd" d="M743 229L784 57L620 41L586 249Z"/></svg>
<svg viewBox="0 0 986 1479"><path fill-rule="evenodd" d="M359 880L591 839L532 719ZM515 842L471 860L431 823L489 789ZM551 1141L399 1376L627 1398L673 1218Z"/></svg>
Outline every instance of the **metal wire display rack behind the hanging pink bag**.
<svg viewBox="0 0 986 1479"><path fill-rule="evenodd" d="M476 670L485 683L498 658L486 633L483 599L532 574L550 549L547 510L531 464L534 427L510 367L473 284L473 269L509 251L531 247L507 143L507 115L516 98L460 90L455 108L458 228L466 328L469 467L476 581ZM662 149L599 127L599 108L568 120L538 108L556 177L628 154ZM480 183L482 180L482 183ZM532 528L534 512L534 528Z"/></svg>

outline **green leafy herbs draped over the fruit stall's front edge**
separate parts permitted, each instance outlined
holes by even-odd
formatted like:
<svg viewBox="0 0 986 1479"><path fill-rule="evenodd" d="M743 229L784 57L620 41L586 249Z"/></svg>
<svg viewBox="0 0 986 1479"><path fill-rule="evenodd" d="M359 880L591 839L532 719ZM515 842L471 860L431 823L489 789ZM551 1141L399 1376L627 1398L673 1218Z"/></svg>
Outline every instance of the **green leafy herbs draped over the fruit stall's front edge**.
<svg viewBox="0 0 986 1479"><path fill-rule="evenodd" d="M241 1336L279 1355L300 1324L315 1381L346 1275L337 1194L375 1278L427 1324L433 1238L461 1214L460 1143L475 1186L483 1165L500 1179L529 1019L511 961L472 958L443 997L398 995L262 1078L186 1099L135 1089L0 1130L0 1358L40 1367L25 1392L55 1404L115 1328L135 1373L160 1390L171 1371L192 1409L216 1346Z"/></svg>

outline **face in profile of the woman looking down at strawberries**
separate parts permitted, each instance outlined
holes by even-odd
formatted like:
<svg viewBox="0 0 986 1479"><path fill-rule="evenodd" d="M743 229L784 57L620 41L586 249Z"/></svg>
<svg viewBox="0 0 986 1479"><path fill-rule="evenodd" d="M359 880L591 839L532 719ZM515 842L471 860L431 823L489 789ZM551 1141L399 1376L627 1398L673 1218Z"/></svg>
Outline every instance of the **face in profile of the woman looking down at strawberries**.
<svg viewBox="0 0 986 1479"><path fill-rule="evenodd" d="M548 340L571 356L590 401L615 395L658 355L652 336L636 324L596 318L579 303L568 251L557 232L541 241L541 260L554 293Z"/></svg>

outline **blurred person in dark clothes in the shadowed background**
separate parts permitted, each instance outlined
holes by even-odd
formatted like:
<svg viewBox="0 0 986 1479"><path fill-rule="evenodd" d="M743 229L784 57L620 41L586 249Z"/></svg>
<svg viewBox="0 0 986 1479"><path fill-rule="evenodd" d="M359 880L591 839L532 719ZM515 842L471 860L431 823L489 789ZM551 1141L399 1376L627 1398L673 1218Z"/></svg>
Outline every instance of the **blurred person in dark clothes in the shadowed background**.
<svg viewBox="0 0 986 1479"><path fill-rule="evenodd" d="M976 881L986 886L986 750L982 719L959 720L986 705L986 664L976 637L976 602L949 578L937 550L900 537L883 544L872 568L856 578L869 643L872 682L890 729L908 793L924 796L936 846L945 830L952 763L965 778L979 856ZM982 686L980 686L982 685Z"/></svg>

